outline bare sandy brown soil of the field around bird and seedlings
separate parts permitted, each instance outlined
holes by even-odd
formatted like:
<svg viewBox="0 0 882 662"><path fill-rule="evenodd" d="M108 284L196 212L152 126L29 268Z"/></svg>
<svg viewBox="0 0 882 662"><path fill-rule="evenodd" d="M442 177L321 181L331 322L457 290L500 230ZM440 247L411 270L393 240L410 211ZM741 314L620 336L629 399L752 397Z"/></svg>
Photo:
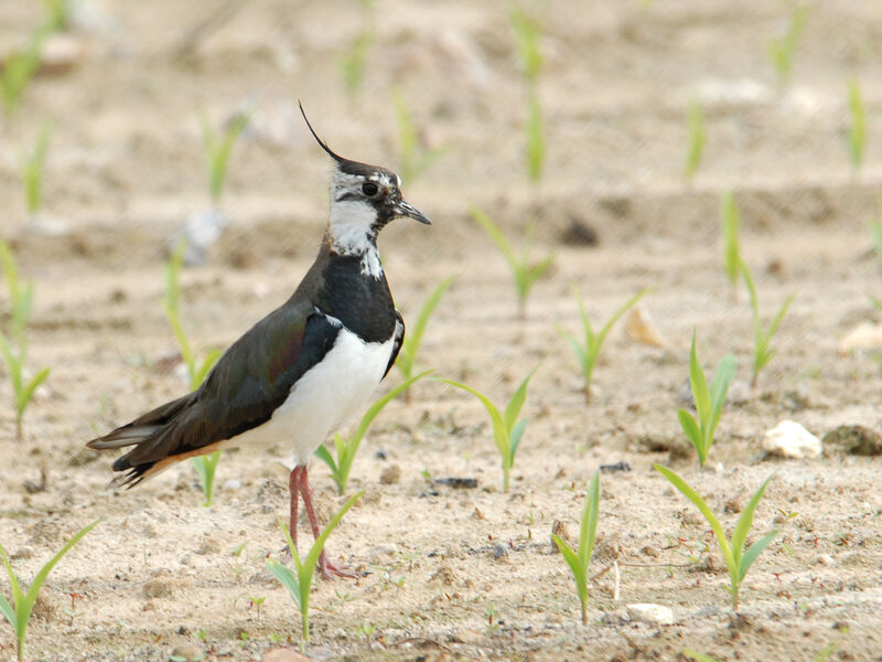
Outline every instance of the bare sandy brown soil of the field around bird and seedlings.
<svg viewBox="0 0 882 662"><path fill-rule="evenodd" d="M349 493L365 494L327 544L362 577L316 583L306 656L619 662L685 660L688 649L717 660L882 660L882 460L829 438L815 459L761 449L784 419L820 438L882 426L882 348L840 351L857 327L882 321L869 298L882 296L882 267L868 228L882 189L878 2L807 2L783 82L767 47L787 32L795 2L528 6L544 30L539 185L525 172L526 92L505 2L75 4L66 43L55 45L61 63L39 72L17 114L0 116L0 238L35 286L30 374L52 369L22 439L0 369L0 544L30 580L103 517L50 576L29 659L260 660L298 648L297 610L265 569L283 545L286 439L270 453L228 452L212 508L201 505L189 465L131 491L107 489L112 453L84 442L186 389L160 300L169 238L208 206L198 114L219 124L254 108L229 163L230 224L207 263L182 274L184 324L205 352L280 305L318 248L330 167L295 99L342 154L399 168L398 89L420 139L442 150L404 185L433 225L401 220L380 238L411 328L435 285L456 277L419 364L496 402L540 367L508 493L475 398L422 381L411 402L384 409L353 469ZM39 2L0 3L0 51L21 50L42 15ZM366 32L364 78L349 94L341 63ZM847 149L852 77L869 138L860 169ZM703 109L707 145L687 182L690 102ZM53 130L33 220L19 154L45 120ZM733 296L722 269L729 190L763 321L796 293L756 388L746 291L739 284ZM513 238L535 222L536 256L556 253L525 318L470 203ZM573 223L598 242L573 241ZM579 330L573 285L595 324L654 287L643 305L667 342L636 342L620 323L590 403L560 333ZM8 303L2 284L3 329ZM704 470L676 415L693 329L707 371L729 352L739 360ZM392 371L379 393L399 382ZM616 562L617 595L614 570L592 579L583 626L550 534L560 522L578 537L591 476L616 462L631 470L601 477L591 573ZM680 472L727 527L775 472L751 540L773 527L781 535L747 574L739 615L709 526L654 462ZM435 482L444 478L477 487ZM321 462L311 480L326 522L345 498ZM8 588L0 576L0 592ZM71 594L79 596L73 609ZM669 607L673 623L630 618L627 606L639 602ZM0 659L13 656L12 628L1 622Z"/></svg>

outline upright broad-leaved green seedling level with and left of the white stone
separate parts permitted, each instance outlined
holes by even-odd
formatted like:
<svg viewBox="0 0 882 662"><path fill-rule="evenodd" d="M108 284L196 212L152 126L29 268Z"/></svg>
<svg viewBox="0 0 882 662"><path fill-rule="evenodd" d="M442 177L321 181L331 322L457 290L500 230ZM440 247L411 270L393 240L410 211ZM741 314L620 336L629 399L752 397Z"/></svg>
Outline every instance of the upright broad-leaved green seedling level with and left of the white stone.
<svg viewBox="0 0 882 662"><path fill-rule="evenodd" d="M732 354L727 354L717 366L717 375L708 391L704 371L698 361L696 351L696 333L692 331L692 349L689 353L689 385L692 388L692 399L696 403L696 415L687 409L678 409L677 417L680 427L686 433L689 442L698 453L698 463L703 467L708 459L710 447L713 446L713 434L720 423L720 416L725 404L725 394L729 384L735 375L738 360Z"/></svg>

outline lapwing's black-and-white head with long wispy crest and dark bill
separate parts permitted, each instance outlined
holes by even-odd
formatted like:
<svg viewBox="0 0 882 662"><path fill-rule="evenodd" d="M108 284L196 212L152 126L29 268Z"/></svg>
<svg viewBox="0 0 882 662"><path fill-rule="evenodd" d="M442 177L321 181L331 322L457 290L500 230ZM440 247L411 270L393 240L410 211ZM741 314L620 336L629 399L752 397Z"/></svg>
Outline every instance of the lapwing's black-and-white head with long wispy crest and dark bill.
<svg viewBox="0 0 882 662"><path fill-rule="evenodd" d="M334 159L331 179L331 235L335 247L364 253L376 247L377 234L392 218L408 216L426 225L431 221L401 195L401 178L379 166L351 161L319 138L303 106L300 113L321 148Z"/></svg>

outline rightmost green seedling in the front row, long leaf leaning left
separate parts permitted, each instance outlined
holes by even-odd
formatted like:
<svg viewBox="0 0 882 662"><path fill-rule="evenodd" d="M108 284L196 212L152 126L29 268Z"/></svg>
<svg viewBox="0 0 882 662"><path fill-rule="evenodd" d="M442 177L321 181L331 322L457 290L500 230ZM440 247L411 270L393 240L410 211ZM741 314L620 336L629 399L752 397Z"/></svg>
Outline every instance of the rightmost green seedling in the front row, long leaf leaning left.
<svg viewBox="0 0 882 662"><path fill-rule="evenodd" d="M760 553L765 549L778 534L777 530L773 530L745 549L747 534L753 526L753 515L756 512L756 506L760 503L760 499L763 498L768 481L771 481L775 474L773 473L766 478L763 484L760 485L760 489L753 494L750 503L747 503L741 516L738 519L738 522L735 522L735 527L732 531L732 538L729 540L725 537L725 531L723 531L722 524L720 524L717 515L711 512L710 508L708 508L708 504L698 492L667 467L663 467L662 465L653 465L653 467L701 511L701 514L704 515L708 524L710 524L710 527L713 530L713 535L717 536L720 552L722 552L727 568L729 569L729 580L731 585L727 587L727 590L732 595L732 609L738 611L739 591L744 581L744 576L747 574L747 569L753 562L756 560L756 557L760 556Z"/></svg>

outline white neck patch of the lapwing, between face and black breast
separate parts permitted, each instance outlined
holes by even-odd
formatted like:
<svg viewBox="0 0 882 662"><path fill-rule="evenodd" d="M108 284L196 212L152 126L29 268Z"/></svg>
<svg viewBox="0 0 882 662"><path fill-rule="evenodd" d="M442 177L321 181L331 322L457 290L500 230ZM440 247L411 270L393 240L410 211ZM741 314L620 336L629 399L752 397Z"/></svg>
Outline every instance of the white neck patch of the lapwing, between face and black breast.
<svg viewBox="0 0 882 662"><path fill-rule="evenodd" d="M348 200L335 201L331 205L325 241L336 255L359 257L365 276L381 278L375 222L376 211L370 205Z"/></svg>

